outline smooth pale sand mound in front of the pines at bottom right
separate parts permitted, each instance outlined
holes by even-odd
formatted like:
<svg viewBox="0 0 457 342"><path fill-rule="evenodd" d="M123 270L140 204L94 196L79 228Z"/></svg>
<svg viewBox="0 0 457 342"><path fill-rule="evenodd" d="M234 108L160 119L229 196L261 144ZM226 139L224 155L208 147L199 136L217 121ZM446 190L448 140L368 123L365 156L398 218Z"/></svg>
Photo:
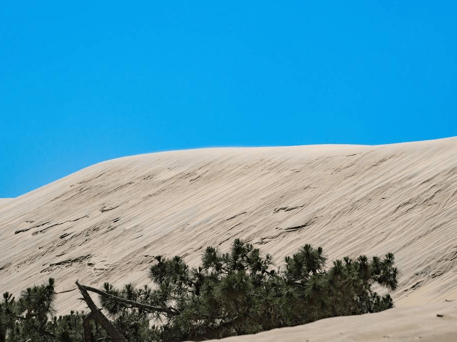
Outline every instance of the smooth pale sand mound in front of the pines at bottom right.
<svg viewBox="0 0 457 342"><path fill-rule="evenodd" d="M457 341L457 303L397 307L373 314L333 317L309 324L263 331L254 335L223 338L219 341L455 342Z"/></svg>

